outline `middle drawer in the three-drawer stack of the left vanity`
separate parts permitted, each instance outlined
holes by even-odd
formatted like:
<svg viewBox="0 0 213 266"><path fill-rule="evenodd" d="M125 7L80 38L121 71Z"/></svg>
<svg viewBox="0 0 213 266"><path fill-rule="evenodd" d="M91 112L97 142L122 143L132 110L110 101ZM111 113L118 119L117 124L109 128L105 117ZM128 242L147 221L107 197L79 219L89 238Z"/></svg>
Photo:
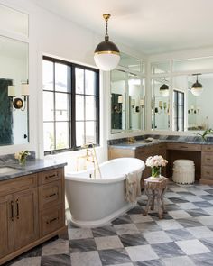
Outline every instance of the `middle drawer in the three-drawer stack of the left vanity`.
<svg viewBox="0 0 213 266"><path fill-rule="evenodd" d="M62 180L57 180L39 187L39 208L60 204L62 202Z"/></svg>

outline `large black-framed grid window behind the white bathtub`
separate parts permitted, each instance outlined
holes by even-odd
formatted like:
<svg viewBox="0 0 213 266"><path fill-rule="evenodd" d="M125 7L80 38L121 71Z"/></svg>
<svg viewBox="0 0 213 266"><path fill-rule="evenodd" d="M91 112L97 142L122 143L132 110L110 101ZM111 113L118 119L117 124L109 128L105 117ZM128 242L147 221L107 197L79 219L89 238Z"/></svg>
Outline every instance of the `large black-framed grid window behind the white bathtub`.
<svg viewBox="0 0 213 266"><path fill-rule="evenodd" d="M99 71L43 57L44 152L99 144Z"/></svg>

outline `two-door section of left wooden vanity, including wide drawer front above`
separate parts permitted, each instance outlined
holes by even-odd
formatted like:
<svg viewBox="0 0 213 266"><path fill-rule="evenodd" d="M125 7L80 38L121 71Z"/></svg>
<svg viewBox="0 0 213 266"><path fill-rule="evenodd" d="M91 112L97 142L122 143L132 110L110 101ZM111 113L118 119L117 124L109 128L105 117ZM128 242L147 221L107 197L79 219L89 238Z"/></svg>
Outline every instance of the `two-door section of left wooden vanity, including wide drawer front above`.
<svg viewBox="0 0 213 266"><path fill-rule="evenodd" d="M20 183L19 178L1 181L0 185L1 258L38 238L37 175L20 178Z"/></svg>

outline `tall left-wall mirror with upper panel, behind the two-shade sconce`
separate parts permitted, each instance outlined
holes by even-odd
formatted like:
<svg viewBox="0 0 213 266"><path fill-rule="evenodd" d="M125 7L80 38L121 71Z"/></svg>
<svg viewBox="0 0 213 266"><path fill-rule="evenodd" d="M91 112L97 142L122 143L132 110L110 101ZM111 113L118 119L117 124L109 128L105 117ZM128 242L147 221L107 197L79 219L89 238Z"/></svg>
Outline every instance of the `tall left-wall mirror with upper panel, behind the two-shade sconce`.
<svg viewBox="0 0 213 266"><path fill-rule="evenodd" d="M28 15L0 5L7 36L28 36ZM0 23L3 25L3 23ZM0 26L1 31L1 26ZM28 42L0 36L0 145L29 141Z"/></svg>

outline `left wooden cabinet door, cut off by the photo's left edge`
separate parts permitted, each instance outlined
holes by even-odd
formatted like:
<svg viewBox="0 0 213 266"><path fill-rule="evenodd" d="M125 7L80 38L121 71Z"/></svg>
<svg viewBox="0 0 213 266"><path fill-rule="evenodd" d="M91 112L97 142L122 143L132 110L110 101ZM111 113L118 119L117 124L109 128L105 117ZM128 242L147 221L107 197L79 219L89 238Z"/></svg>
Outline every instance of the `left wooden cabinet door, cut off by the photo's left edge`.
<svg viewBox="0 0 213 266"><path fill-rule="evenodd" d="M0 258L14 250L13 197L0 197Z"/></svg>

